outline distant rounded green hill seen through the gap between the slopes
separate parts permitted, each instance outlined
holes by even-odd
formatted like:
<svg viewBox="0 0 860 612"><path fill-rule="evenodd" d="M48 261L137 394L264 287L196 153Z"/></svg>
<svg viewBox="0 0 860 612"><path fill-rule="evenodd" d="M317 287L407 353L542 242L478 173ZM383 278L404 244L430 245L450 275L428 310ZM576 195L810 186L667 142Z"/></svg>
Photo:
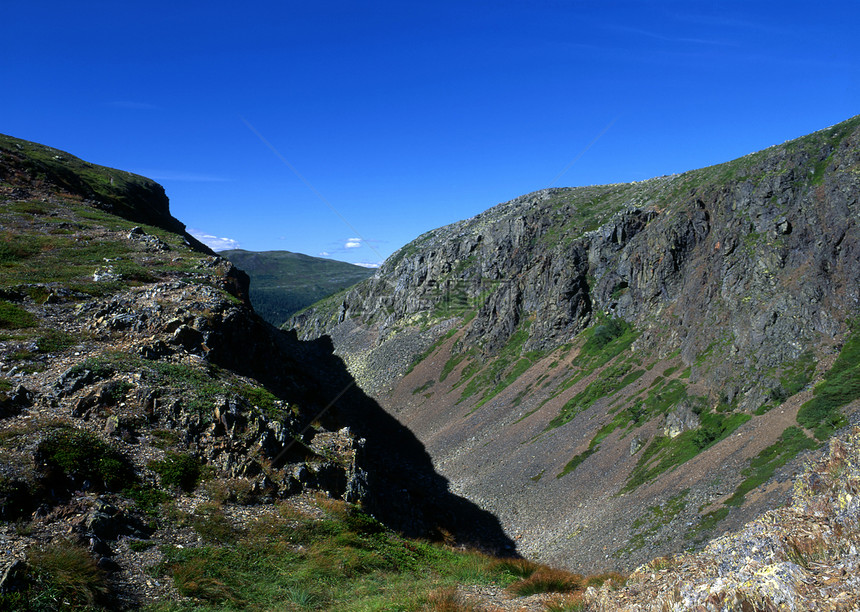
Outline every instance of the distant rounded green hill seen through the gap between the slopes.
<svg viewBox="0 0 860 612"><path fill-rule="evenodd" d="M293 313L373 274L342 261L289 251L222 251L221 255L251 277L251 303L272 325Z"/></svg>

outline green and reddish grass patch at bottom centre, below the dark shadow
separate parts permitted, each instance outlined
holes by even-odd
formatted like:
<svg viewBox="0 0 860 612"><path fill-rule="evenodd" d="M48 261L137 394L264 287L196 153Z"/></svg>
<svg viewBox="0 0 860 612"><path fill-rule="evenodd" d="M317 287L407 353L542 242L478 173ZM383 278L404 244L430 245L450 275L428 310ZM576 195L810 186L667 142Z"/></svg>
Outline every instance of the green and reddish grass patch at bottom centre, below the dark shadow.
<svg viewBox="0 0 860 612"><path fill-rule="evenodd" d="M496 559L407 540L354 507L328 502L323 520L286 509L232 542L166 548L159 572L191 609L417 610L431 593L459 584L520 578ZM174 610L162 603L155 610Z"/></svg>

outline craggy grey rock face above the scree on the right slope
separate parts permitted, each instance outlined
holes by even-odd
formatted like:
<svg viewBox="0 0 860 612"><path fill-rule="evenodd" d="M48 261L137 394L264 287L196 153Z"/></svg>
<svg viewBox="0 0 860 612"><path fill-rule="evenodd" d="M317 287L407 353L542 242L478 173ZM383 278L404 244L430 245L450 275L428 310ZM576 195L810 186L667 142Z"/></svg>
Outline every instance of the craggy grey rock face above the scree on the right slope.
<svg viewBox="0 0 860 612"><path fill-rule="evenodd" d="M688 365L710 350L693 380L755 408L769 370L843 332L860 307L858 125L681 175L499 204L422 235L292 325L304 339L331 335L353 364L422 317L473 312L461 345L492 358L526 318L525 348L547 349L599 313ZM348 321L369 330L358 348L346 348ZM413 342L413 355L431 342ZM381 390L409 361L363 380L354 369Z"/></svg>

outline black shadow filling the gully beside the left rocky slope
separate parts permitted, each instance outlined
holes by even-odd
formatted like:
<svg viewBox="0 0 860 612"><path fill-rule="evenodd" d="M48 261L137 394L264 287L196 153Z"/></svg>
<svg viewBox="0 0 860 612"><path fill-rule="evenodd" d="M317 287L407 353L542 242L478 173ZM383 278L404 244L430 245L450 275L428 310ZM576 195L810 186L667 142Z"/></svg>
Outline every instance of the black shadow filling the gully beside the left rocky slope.
<svg viewBox="0 0 860 612"><path fill-rule="evenodd" d="M418 438L356 384L328 336L303 342L258 316L226 319L209 359L252 376L291 404L309 425L349 427L365 438L360 465L368 472L362 504L389 527L497 555L515 556L499 520L449 490Z"/></svg>

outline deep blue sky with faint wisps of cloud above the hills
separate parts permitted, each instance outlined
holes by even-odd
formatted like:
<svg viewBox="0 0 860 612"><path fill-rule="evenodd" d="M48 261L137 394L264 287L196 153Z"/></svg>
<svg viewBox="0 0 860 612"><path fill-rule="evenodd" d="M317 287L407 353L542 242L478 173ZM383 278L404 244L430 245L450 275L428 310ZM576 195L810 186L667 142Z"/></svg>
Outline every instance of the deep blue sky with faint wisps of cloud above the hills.
<svg viewBox="0 0 860 612"><path fill-rule="evenodd" d="M224 244L353 263L551 184L860 113L854 0L30 0L2 20L0 132L152 177Z"/></svg>

